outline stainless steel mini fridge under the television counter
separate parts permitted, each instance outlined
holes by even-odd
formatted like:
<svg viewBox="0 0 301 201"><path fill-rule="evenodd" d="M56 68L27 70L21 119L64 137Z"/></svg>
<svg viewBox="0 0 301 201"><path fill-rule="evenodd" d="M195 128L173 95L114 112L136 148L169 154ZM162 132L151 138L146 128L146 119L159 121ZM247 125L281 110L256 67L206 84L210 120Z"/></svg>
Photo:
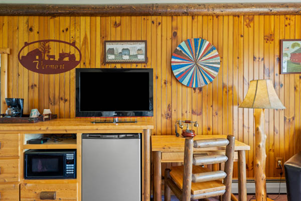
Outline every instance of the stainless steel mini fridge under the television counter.
<svg viewBox="0 0 301 201"><path fill-rule="evenodd" d="M82 134L82 200L141 200L141 134Z"/></svg>

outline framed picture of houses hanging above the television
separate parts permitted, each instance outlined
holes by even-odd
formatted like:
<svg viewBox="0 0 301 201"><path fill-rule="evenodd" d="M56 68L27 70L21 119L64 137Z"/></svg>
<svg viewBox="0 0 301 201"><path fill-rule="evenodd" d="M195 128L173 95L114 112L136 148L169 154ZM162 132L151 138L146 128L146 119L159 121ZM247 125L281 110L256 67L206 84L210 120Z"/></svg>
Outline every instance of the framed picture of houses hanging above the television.
<svg viewBox="0 0 301 201"><path fill-rule="evenodd" d="M104 41L104 63L147 63L146 41Z"/></svg>

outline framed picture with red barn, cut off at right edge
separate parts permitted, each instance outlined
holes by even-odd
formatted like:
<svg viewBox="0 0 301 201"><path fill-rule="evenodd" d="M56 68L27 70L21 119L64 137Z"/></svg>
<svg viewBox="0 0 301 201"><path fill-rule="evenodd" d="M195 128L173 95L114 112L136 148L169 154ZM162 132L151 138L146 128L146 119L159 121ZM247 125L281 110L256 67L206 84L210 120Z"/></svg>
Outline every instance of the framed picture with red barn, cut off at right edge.
<svg viewBox="0 0 301 201"><path fill-rule="evenodd" d="M301 39L281 40L281 74L301 73Z"/></svg>

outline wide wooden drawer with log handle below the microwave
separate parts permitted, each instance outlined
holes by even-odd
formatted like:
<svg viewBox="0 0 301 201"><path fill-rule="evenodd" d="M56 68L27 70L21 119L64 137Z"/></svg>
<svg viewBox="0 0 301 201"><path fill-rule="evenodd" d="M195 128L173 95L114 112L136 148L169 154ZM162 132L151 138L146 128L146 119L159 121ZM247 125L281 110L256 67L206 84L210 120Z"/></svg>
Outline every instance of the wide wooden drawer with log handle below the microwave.
<svg viewBox="0 0 301 201"><path fill-rule="evenodd" d="M21 200L76 200L76 183L22 183Z"/></svg>

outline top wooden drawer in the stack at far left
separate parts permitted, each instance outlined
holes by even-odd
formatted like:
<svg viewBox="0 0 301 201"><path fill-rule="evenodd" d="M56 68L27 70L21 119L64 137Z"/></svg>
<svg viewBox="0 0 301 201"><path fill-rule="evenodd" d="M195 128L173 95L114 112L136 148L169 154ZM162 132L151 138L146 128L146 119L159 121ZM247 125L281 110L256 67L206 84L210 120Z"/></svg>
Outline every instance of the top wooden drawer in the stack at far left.
<svg viewBox="0 0 301 201"><path fill-rule="evenodd" d="M1 157L19 156L20 134L0 134L0 159Z"/></svg>

